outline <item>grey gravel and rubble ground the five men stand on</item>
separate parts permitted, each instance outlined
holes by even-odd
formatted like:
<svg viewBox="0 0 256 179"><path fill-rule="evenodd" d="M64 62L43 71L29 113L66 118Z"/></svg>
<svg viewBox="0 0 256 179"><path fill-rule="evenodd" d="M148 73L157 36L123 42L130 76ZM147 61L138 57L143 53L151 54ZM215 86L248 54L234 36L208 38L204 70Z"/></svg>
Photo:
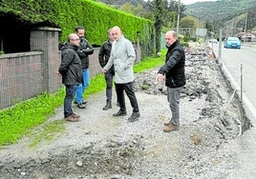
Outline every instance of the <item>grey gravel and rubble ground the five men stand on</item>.
<svg viewBox="0 0 256 179"><path fill-rule="evenodd" d="M136 74L139 121L132 113L113 117L102 110L105 92L88 99L77 123L65 123L65 132L31 148L31 138L0 149L0 178L88 179L217 179L228 178L238 167L230 141L241 134L239 103L232 98L208 49L186 50L187 84L181 92L181 128L164 133L171 118L164 84L155 80L158 69ZM115 92L114 92L115 93ZM114 96L114 102L116 96ZM63 120L62 107L48 122Z"/></svg>

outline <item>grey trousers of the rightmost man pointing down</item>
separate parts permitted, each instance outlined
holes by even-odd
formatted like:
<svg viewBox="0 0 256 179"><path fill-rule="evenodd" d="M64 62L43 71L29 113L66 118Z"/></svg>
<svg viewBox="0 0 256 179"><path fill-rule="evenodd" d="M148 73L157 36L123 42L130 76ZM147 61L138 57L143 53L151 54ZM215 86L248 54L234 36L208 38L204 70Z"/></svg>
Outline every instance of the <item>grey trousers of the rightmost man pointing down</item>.
<svg viewBox="0 0 256 179"><path fill-rule="evenodd" d="M167 99L172 112L171 124L180 125L180 94L182 87L171 89L167 88Z"/></svg>

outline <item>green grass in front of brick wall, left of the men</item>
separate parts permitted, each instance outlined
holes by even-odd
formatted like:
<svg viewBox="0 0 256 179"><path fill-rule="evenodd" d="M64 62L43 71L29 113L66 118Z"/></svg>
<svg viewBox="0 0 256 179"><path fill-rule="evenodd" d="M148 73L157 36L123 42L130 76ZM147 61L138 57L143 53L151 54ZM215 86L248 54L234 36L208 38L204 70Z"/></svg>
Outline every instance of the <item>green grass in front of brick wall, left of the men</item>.
<svg viewBox="0 0 256 179"><path fill-rule="evenodd" d="M43 124L63 103L64 90L54 94L42 93L0 112L0 146L18 141L35 126Z"/></svg>

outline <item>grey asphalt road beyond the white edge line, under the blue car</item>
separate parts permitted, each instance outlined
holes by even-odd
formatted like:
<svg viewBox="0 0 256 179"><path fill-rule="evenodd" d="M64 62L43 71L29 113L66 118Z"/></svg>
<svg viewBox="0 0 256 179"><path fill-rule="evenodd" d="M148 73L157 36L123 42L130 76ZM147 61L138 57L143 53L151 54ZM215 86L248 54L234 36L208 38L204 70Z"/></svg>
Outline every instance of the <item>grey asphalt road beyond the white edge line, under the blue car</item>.
<svg viewBox="0 0 256 179"><path fill-rule="evenodd" d="M216 54L219 52L219 44L210 44ZM239 93L243 89L243 101L250 115L256 121L256 45L242 45L241 50L224 49L222 47L221 60L225 68L230 72L231 78Z"/></svg>

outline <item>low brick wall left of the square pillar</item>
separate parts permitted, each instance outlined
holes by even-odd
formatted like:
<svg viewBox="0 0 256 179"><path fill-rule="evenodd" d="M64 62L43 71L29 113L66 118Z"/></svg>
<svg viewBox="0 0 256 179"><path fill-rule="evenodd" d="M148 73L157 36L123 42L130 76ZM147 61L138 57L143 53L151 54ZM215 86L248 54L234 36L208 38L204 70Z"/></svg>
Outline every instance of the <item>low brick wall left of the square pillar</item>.
<svg viewBox="0 0 256 179"><path fill-rule="evenodd" d="M0 109L42 91L42 55L40 51L0 55Z"/></svg>

